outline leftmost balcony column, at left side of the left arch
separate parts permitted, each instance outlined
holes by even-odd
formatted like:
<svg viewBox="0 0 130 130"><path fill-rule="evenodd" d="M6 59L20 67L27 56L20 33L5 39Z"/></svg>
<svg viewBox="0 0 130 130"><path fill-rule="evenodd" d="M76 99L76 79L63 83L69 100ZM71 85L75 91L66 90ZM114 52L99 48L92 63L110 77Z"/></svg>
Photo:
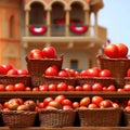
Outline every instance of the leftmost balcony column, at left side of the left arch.
<svg viewBox="0 0 130 130"><path fill-rule="evenodd" d="M25 36L28 36L28 28L29 28L29 10L25 11Z"/></svg>

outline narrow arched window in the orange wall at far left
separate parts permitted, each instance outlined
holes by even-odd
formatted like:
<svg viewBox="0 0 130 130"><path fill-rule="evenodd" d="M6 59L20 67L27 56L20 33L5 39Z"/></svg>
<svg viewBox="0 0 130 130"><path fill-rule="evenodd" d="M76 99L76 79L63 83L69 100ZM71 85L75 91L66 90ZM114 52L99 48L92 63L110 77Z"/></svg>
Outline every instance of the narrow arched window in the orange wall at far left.
<svg viewBox="0 0 130 130"><path fill-rule="evenodd" d="M12 15L9 20L9 38L14 38L14 16Z"/></svg>

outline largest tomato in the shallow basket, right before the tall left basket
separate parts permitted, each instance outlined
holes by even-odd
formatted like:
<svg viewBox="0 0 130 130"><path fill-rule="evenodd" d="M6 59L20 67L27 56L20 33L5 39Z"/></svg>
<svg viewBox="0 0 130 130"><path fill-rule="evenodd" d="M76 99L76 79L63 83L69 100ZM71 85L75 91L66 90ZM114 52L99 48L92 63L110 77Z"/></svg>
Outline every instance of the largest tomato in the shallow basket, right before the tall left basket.
<svg viewBox="0 0 130 130"><path fill-rule="evenodd" d="M57 76L57 75L58 75L58 72L57 72L57 69L56 69L55 67L50 66L50 67L48 67L48 68L46 69L44 75L46 75L46 76Z"/></svg>

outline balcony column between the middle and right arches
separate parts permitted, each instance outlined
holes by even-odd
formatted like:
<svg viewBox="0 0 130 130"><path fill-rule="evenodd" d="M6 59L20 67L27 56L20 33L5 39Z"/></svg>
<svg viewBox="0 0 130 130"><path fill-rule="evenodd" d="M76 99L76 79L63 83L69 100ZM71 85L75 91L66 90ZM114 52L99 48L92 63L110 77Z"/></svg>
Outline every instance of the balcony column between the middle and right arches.
<svg viewBox="0 0 130 130"><path fill-rule="evenodd" d="M69 11L66 11L66 17L65 17L65 36L69 36Z"/></svg>

